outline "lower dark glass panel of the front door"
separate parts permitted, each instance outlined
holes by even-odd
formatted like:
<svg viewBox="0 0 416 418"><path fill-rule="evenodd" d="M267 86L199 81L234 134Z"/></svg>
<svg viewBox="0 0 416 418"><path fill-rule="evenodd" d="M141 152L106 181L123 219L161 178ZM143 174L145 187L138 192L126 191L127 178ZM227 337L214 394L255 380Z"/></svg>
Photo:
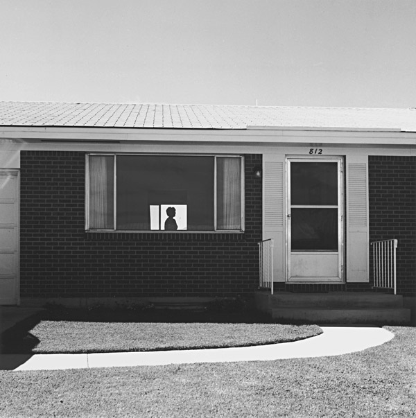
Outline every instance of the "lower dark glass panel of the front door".
<svg viewBox="0 0 416 418"><path fill-rule="evenodd" d="M338 251L338 209L291 211L292 251Z"/></svg>

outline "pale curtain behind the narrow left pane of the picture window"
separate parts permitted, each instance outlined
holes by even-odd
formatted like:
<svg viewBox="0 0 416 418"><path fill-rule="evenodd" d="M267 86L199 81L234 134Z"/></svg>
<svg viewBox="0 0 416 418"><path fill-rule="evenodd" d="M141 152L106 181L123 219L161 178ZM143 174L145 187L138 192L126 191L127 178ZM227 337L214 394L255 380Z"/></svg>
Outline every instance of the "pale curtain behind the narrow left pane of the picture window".
<svg viewBox="0 0 416 418"><path fill-rule="evenodd" d="M89 229L114 228L114 157L89 157Z"/></svg>

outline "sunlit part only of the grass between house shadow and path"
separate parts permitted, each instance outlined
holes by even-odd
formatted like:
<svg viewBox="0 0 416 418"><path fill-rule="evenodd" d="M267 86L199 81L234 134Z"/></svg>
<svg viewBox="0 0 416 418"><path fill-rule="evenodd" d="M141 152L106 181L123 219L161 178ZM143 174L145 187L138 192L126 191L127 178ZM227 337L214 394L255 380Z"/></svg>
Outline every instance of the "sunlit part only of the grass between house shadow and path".
<svg viewBox="0 0 416 418"><path fill-rule="evenodd" d="M244 347L302 340L317 325L41 321L33 353L97 353Z"/></svg>

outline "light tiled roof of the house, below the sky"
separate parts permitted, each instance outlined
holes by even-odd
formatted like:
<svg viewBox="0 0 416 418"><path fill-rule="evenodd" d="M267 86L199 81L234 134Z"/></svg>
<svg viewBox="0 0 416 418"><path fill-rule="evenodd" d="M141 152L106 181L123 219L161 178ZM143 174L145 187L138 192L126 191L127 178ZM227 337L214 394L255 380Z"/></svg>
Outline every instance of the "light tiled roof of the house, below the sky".
<svg viewBox="0 0 416 418"><path fill-rule="evenodd" d="M0 125L83 128L312 128L416 132L416 109L0 102Z"/></svg>

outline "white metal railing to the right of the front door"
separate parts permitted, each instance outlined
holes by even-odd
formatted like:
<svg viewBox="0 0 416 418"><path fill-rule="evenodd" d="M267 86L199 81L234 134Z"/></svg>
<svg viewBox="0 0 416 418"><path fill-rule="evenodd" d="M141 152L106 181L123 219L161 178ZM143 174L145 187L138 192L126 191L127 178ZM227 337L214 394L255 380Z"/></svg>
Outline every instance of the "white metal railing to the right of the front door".
<svg viewBox="0 0 416 418"><path fill-rule="evenodd" d="M374 288L393 289L396 295L397 239L371 243Z"/></svg>

